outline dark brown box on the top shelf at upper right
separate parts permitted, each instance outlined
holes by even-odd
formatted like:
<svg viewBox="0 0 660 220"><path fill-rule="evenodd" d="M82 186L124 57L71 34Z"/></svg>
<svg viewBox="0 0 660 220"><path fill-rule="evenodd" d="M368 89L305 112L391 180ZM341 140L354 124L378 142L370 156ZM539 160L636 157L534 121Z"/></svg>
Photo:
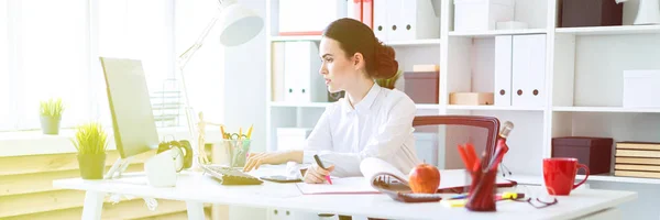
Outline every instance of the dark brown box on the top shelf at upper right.
<svg viewBox="0 0 660 220"><path fill-rule="evenodd" d="M609 26L622 25L624 4L615 0L562 0L559 26Z"/></svg>

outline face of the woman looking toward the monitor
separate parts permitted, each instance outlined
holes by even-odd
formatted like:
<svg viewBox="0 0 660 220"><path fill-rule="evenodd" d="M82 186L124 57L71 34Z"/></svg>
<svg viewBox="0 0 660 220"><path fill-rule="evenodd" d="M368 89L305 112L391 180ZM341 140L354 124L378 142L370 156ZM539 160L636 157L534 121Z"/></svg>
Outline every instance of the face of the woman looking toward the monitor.
<svg viewBox="0 0 660 220"><path fill-rule="evenodd" d="M319 73L326 79L328 91L338 92L350 88L358 81L358 65L354 56L346 54L339 46L339 42L333 38L322 37L319 45L319 55L321 57L321 69Z"/></svg>

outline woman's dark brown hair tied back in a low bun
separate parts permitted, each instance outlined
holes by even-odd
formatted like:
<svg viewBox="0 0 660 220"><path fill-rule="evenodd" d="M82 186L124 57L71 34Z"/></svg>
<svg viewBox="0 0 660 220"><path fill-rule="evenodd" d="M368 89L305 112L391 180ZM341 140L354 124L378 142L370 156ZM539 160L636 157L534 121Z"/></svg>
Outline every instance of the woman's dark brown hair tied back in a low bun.
<svg viewBox="0 0 660 220"><path fill-rule="evenodd" d="M323 36L339 42L339 46L352 56L361 53L364 56L366 74L376 79L388 79L398 72L394 48L384 45L371 28L350 18L333 21L323 30Z"/></svg>

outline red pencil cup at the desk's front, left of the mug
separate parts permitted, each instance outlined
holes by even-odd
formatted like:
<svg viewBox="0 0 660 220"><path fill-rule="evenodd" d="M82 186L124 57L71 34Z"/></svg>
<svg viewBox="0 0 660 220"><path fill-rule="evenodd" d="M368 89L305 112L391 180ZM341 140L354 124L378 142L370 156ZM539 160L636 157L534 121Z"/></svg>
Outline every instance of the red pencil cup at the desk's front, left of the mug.
<svg viewBox="0 0 660 220"><path fill-rule="evenodd" d="M495 211L497 169L479 169L472 173L472 183L465 208L471 211Z"/></svg>

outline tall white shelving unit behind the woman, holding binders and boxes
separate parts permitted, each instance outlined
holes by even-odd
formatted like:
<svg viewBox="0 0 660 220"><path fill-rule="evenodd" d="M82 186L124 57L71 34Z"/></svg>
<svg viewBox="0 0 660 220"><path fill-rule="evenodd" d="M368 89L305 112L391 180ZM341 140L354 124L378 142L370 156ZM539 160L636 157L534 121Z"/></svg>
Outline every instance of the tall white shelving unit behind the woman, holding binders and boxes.
<svg viewBox="0 0 660 220"><path fill-rule="evenodd" d="M418 114L493 116L502 122L512 121L515 129L508 139L510 151L504 164L514 174L539 178L542 158L551 156L553 138L586 135L608 136L615 142L660 142L660 108L631 109L622 105L623 70L660 69L660 25L631 25L637 1L626 3L622 26L557 28L559 0L516 0L515 18L528 23L528 29L483 32L453 31L453 0L435 1L440 6L439 38L385 42L396 50L403 70L411 70L414 64L440 65L438 103L418 105ZM282 41L320 41L319 36L277 36L277 31L272 29L277 1L267 2L268 45ZM546 35L547 94L541 107L449 105L450 92L494 91L496 36L529 34ZM270 50L268 46L267 100L271 100ZM266 110L268 143L276 143L276 128L312 128L327 105L270 102ZM444 150L438 153L440 163L451 168L460 163L453 148L470 136L459 130L439 132L439 148ZM592 175L588 179L601 184L597 186L613 184L617 189L627 190L635 190L635 185L626 188L616 184L660 184L660 179L612 174Z"/></svg>

